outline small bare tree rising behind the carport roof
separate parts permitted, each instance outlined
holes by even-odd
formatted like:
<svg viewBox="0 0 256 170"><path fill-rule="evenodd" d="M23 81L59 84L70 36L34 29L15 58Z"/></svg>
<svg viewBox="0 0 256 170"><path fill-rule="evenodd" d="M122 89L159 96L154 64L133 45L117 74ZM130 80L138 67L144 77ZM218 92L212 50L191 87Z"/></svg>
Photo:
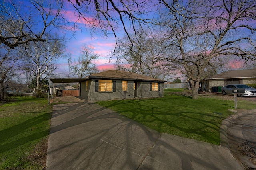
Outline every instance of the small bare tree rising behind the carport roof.
<svg viewBox="0 0 256 170"><path fill-rule="evenodd" d="M72 60L71 57L68 59L71 74L82 78L98 72L93 61L98 59L99 55L94 54L92 46L84 44L81 46L80 52L81 54L78 56L78 59Z"/></svg>

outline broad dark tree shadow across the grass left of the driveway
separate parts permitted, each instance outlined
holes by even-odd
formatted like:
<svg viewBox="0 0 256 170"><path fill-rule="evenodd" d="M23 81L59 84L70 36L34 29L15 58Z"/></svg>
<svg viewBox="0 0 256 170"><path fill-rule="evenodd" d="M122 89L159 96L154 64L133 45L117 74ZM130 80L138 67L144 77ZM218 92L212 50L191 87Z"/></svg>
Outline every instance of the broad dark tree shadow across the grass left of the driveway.
<svg viewBox="0 0 256 170"><path fill-rule="evenodd" d="M34 117L32 119L28 119L18 125L14 125L12 127L9 127L7 129L4 129L0 131L0 143L4 143L4 141L9 140L12 137L15 137L16 135L19 135L20 133L24 133L24 131L27 131L30 129L33 131L33 129L37 128L37 125L42 123L42 121L47 121L50 119L49 113L44 113L43 115L39 115L37 117ZM0 153L6 152L10 149L17 148L21 145L24 145L30 141L34 141L36 139L41 139L42 137L45 137L49 134L50 129L46 129L43 131L37 131L35 130L35 133L28 134L24 137L21 137L19 139L16 139L14 141L10 141L5 144L0 145Z"/></svg>

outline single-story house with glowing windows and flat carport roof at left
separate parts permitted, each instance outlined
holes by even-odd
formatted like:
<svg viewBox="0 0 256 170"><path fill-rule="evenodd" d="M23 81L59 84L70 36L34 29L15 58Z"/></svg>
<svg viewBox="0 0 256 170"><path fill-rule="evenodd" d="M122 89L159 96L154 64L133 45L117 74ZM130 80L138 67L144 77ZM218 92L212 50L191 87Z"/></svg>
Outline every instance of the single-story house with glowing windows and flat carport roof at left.
<svg viewBox="0 0 256 170"><path fill-rule="evenodd" d="M164 82L133 72L108 70L86 78L50 78L51 82L79 82L80 96L89 101L164 96Z"/></svg>

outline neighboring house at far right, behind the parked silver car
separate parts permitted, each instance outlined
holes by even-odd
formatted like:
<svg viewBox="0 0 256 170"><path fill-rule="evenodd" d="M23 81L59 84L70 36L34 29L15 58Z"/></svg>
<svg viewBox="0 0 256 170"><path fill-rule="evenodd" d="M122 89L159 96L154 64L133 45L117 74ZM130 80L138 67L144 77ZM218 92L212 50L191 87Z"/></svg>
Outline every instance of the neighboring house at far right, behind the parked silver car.
<svg viewBox="0 0 256 170"><path fill-rule="evenodd" d="M202 80L202 90L212 92L212 87L226 86L228 84L254 83L256 83L256 69L232 70L205 78Z"/></svg>

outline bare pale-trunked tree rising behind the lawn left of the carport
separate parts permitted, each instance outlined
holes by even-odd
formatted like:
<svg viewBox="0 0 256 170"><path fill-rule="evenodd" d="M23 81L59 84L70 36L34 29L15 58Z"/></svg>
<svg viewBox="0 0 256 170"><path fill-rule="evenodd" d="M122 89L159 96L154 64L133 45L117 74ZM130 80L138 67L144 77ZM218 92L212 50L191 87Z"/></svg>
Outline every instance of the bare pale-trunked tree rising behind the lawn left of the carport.
<svg viewBox="0 0 256 170"><path fill-rule="evenodd" d="M23 58L23 70L36 78L36 92L41 78L46 78L56 70L56 60L64 57L65 45L56 36L51 42L30 41L26 45L26 57Z"/></svg>

